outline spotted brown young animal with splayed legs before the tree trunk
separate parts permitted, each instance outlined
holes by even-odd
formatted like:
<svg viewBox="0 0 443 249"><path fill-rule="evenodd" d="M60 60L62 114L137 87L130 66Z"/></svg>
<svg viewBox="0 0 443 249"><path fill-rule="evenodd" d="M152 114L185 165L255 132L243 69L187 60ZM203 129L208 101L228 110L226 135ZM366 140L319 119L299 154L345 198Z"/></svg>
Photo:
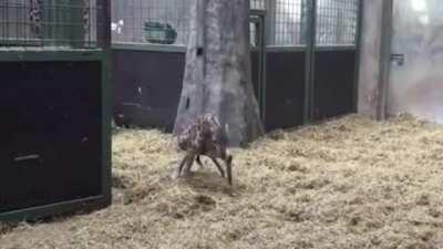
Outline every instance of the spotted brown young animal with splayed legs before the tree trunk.
<svg viewBox="0 0 443 249"><path fill-rule="evenodd" d="M203 167L200 155L205 155L217 166L222 177L225 177L225 170L218 164L217 158L225 162L228 184L233 185L233 156L228 154L227 146L226 131L215 116L206 114L197 117L178 136L178 147L186 152L185 158L178 166L178 176L182 175L183 169L186 175L189 174L194 160Z"/></svg>

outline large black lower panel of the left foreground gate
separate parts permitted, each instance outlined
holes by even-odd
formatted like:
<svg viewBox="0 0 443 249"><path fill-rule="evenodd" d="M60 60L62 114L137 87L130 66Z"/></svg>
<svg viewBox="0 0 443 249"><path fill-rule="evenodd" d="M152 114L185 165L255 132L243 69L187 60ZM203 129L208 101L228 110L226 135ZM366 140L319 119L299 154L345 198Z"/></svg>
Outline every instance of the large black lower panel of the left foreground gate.
<svg viewBox="0 0 443 249"><path fill-rule="evenodd" d="M104 195L101 68L0 63L0 214Z"/></svg>

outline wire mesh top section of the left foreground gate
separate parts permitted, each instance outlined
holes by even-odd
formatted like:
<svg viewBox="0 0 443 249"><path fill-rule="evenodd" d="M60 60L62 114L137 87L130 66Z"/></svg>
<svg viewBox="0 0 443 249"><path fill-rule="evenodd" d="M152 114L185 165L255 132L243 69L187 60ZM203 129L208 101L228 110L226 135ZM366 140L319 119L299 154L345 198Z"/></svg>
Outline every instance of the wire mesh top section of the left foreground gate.
<svg viewBox="0 0 443 249"><path fill-rule="evenodd" d="M95 48L96 0L0 0L0 46Z"/></svg>

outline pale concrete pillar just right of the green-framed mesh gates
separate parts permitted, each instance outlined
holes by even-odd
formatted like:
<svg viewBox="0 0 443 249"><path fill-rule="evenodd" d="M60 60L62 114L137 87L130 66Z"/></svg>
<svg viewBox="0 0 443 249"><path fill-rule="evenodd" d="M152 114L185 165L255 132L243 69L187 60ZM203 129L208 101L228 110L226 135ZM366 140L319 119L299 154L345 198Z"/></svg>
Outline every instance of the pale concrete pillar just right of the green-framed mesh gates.
<svg viewBox="0 0 443 249"><path fill-rule="evenodd" d="M383 0L363 0L358 112L377 116Z"/></svg>

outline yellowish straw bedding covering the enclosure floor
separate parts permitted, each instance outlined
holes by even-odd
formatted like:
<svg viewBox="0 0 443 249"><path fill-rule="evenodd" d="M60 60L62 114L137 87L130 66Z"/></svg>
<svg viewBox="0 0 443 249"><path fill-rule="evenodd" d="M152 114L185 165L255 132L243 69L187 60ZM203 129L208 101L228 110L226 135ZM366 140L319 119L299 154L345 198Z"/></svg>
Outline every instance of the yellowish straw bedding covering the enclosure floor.
<svg viewBox="0 0 443 249"><path fill-rule="evenodd" d="M230 190L206 162L171 180L169 135L114 136L114 204L2 227L0 248L443 248L443 128L357 115L234 151Z"/></svg>

